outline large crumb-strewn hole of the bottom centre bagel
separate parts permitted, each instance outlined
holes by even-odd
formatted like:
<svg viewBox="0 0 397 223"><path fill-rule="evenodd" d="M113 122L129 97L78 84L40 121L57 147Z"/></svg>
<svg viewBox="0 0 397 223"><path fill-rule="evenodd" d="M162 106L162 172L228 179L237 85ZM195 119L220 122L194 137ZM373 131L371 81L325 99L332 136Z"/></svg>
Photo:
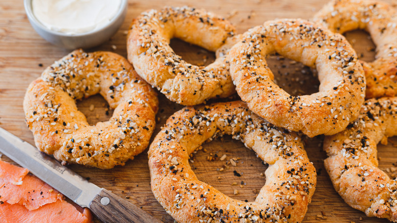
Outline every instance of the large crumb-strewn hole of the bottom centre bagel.
<svg viewBox="0 0 397 223"><path fill-rule="evenodd" d="M194 162L190 162L198 180L208 183L233 199L255 201L265 185L264 173L268 165L255 152L246 148L243 143L233 140L230 135L205 143L202 147L192 154L191 159ZM223 155L226 158L220 160ZM235 166L230 161L233 158L236 159ZM234 194L235 190L237 194Z"/></svg>

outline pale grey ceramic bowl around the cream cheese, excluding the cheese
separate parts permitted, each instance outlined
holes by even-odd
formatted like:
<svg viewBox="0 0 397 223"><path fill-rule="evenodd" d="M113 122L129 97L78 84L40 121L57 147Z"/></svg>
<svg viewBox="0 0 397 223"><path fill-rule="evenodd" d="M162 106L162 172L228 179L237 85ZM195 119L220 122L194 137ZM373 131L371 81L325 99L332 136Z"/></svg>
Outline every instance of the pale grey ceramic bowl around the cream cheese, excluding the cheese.
<svg viewBox="0 0 397 223"><path fill-rule="evenodd" d="M82 34L65 34L56 32L45 27L33 14L32 0L24 0L23 5L27 14L27 18L31 22L33 29L48 42L66 49L90 48L97 46L111 36L113 36L120 28L127 14L128 0L122 0L119 11L108 24L99 30L94 30Z"/></svg>

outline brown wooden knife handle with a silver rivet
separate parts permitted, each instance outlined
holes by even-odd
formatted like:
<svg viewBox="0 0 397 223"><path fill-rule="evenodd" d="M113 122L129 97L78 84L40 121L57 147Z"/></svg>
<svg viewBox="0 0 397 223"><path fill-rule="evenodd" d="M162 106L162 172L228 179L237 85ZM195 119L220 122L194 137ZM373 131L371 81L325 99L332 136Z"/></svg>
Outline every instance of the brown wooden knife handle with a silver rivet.
<svg viewBox="0 0 397 223"><path fill-rule="evenodd" d="M104 223L144 222L160 223L134 204L102 188L90 204L91 211Z"/></svg>

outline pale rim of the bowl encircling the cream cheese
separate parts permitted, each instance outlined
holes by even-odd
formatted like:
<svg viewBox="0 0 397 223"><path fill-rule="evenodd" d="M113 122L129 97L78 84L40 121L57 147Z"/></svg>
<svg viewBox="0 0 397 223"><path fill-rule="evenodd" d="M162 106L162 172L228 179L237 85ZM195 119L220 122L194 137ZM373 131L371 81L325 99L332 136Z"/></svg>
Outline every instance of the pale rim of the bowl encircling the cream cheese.
<svg viewBox="0 0 397 223"><path fill-rule="evenodd" d="M41 30L44 30L47 33L50 33L52 35L56 35L56 36L62 36L62 37L83 37L83 36L89 36L92 34L96 34L99 33L105 29L107 29L109 26L112 26L116 23L116 21L118 20L118 18L120 18L120 16L123 15L124 11L128 8L128 0L121 0L121 4L120 4L120 8L117 11L116 15L109 21L109 23L107 23L106 25L102 26L100 29L97 30L93 30L90 32L86 32L86 33L80 33L80 34L66 34L66 33L62 33L62 32L58 32L58 31L53 31L48 29L45 25L43 25L34 15L33 13L33 9L32 9L32 1L33 0L24 0L23 1L23 6L25 8L25 12L27 17L29 18L29 20L31 20L32 22L35 23L35 25L39 26Z"/></svg>

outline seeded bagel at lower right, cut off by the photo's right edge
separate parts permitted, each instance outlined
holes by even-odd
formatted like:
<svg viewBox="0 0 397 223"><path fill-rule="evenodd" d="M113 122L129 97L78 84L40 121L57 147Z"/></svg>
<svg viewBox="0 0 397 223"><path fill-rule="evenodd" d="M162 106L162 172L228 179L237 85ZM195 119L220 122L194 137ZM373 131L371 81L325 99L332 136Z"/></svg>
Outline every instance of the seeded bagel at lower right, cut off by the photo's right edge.
<svg viewBox="0 0 397 223"><path fill-rule="evenodd" d="M397 135L397 97L366 100L360 115L325 137L325 168L335 190L351 207L397 221L397 181L379 170L377 144Z"/></svg>

